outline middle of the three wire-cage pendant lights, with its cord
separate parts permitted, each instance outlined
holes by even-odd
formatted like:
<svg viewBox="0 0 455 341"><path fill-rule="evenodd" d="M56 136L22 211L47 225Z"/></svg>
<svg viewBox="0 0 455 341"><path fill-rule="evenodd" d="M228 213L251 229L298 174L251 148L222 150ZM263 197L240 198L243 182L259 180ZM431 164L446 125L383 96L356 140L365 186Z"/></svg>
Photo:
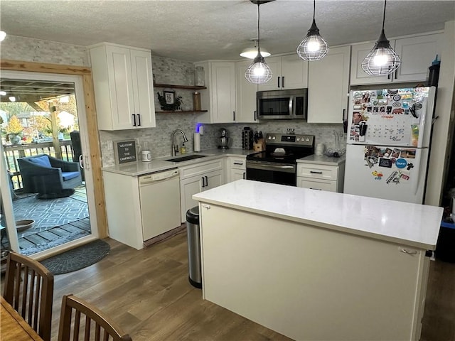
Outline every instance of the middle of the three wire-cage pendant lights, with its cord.
<svg viewBox="0 0 455 341"><path fill-rule="evenodd" d="M304 40L301 40L300 45L297 47L297 54L303 60L320 60L328 53L328 45L321 34L319 28L316 26L314 20L314 13L316 11L316 0L313 0L313 23L311 24L308 33Z"/></svg>

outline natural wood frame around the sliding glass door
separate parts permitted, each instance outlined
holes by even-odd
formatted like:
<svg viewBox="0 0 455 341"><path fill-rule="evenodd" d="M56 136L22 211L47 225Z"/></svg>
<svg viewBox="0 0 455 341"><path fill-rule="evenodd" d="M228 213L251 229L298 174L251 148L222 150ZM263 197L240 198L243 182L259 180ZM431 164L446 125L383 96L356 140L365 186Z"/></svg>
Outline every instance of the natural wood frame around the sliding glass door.
<svg viewBox="0 0 455 341"><path fill-rule="evenodd" d="M85 66L60 65L48 63L24 62L20 60L0 60L1 70L24 72L45 72L58 75L82 76L84 90L85 114L87 115L87 134L89 140L90 163L95 191L95 210L97 230L100 238L108 237L105 207L105 188L102 182L101 149L98 139L97 113L95 109L95 91L93 90L92 69Z"/></svg>

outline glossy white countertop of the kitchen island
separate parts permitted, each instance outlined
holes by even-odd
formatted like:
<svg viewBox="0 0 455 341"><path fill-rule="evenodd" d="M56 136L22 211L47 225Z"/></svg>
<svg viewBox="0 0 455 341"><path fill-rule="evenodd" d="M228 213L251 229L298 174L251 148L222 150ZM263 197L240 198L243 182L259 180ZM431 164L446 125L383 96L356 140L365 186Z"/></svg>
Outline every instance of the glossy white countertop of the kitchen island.
<svg viewBox="0 0 455 341"><path fill-rule="evenodd" d="M193 199L429 250L436 249L443 213L442 207L251 180L221 185Z"/></svg>

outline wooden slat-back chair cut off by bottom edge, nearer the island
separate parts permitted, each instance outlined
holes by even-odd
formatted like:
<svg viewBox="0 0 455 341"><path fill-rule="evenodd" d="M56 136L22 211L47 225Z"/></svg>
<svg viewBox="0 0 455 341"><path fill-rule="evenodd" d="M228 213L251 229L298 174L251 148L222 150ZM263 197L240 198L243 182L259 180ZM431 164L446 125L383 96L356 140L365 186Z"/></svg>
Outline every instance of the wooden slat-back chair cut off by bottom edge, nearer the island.
<svg viewBox="0 0 455 341"><path fill-rule="evenodd" d="M74 318L72 316L73 309L75 310ZM82 318L81 315L85 315L85 318ZM79 340L81 331L84 335L84 341L107 341L109 337L112 337L113 341L132 341L129 335L125 334L116 323L107 318L94 305L76 296L64 295L60 312L58 341ZM73 339L71 339L71 334L73 334Z"/></svg>

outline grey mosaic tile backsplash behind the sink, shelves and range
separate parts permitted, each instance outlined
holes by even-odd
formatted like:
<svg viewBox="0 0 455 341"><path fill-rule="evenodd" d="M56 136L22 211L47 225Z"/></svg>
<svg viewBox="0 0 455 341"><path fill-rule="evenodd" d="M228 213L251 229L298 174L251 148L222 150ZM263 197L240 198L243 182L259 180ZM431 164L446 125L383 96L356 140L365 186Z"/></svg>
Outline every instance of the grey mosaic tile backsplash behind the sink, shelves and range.
<svg viewBox="0 0 455 341"><path fill-rule="evenodd" d="M193 68L193 63L171 58L163 58L152 53L152 67L156 83L185 85L185 72ZM192 90L175 89L176 96L182 97L182 109L191 110L193 107ZM157 92L163 89L155 88L155 109L160 110L157 98ZM144 147L147 144L151 150L152 158L171 156L171 134L175 129L182 129L188 137L186 143L187 153L193 151L193 133L198 124L198 114L195 113L171 113L156 114L156 128L149 129L131 129L124 131L100 131L100 142L102 148L103 166L113 166L114 151L109 150L108 141L119 141L123 139L138 139L139 144ZM335 148L336 136L333 131L341 133L343 124L307 124L301 121L267 121L257 124L204 124L204 134L200 136L200 148L217 148L218 131L220 128L228 130L231 148L242 148L242 129L250 126L251 129L260 130L264 134L267 132L286 133L288 128L295 129L296 134L312 134L316 136L316 144L325 144L327 148ZM340 139L340 148L345 148L346 139ZM176 135L176 144L181 146L183 138L180 134Z"/></svg>

